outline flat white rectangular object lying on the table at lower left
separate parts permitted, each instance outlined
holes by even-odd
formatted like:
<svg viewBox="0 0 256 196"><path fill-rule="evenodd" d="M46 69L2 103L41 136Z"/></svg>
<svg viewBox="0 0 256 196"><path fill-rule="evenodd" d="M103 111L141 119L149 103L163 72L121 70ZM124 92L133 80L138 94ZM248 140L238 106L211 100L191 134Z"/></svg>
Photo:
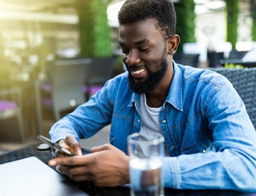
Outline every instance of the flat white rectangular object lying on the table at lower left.
<svg viewBox="0 0 256 196"><path fill-rule="evenodd" d="M87 195L36 157L0 164L1 196Z"/></svg>

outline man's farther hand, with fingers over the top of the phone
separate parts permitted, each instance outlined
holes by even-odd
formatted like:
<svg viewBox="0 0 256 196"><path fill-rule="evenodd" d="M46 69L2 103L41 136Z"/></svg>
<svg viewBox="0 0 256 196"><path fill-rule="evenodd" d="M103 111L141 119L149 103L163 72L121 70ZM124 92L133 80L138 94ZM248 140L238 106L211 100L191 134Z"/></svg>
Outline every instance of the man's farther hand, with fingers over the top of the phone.
<svg viewBox="0 0 256 196"><path fill-rule="evenodd" d="M70 152L73 152L74 155L82 155L82 149L78 141L73 135L68 135L65 140L59 141L59 146L62 146L65 149L68 149ZM58 150L55 151L56 157L64 157Z"/></svg>

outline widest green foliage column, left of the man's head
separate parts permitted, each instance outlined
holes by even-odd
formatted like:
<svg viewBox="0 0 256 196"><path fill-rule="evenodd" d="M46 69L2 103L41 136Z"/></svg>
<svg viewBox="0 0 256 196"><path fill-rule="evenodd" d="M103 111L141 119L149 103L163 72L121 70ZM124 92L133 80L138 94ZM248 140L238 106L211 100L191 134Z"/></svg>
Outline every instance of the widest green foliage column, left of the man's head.
<svg viewBox="0 0 256 196"><path fill-rule="evenodd" d="M81 57L112 55L107 6L108 1L76 0Z"/></svg>

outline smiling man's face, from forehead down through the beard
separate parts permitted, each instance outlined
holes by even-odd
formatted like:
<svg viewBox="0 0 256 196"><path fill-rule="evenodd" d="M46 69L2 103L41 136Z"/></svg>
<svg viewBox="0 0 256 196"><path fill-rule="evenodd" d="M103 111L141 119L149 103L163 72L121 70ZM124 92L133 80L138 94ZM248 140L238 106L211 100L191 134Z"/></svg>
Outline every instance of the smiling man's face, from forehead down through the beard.
<svg viewBox="0 0 256 196"><path fill-rule="evenodd" d="M168 64L163 33L156 20L148 19L119 28L119 45L125 63L129 87L137 93L148 93L162 81Z"/></svg>

